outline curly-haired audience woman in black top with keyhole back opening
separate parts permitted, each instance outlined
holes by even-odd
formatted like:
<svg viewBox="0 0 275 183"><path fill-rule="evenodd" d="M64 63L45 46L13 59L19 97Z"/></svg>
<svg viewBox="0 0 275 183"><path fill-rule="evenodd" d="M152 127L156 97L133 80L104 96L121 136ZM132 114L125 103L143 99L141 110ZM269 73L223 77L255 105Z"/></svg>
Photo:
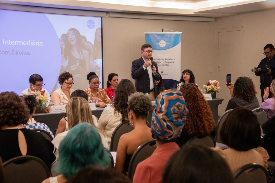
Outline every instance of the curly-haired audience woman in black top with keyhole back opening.
<svg viewBox="0 0 275 183"><path fill-rule="evenodd" d="M23 98L14 92L0 93L0 157L3 162L16 156L36 156L49 169L56 161L56 148L42 134L25 129L30 111ZM35 170L32 170L35 171Z"/></svg>

